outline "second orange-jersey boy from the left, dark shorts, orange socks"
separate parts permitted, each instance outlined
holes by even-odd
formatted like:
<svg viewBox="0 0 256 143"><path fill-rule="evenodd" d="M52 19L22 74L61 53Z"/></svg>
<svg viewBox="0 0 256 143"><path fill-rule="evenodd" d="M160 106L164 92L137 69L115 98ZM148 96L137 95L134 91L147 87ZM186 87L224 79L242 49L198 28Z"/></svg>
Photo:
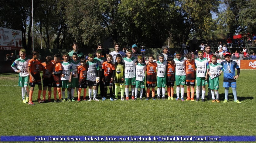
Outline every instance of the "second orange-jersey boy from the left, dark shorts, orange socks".
<svg viewBox="0 0 256 143"><path fill-rule="evenodd" d="M43 100L42 103L45 103L45 95L46 95L46 89L48 87L48 102L51 102L51 95L52 95L52 87L53 87L53 64L51 62L51 56L47 56L45 58L45 62L42 63L43 65Z"/></svg>

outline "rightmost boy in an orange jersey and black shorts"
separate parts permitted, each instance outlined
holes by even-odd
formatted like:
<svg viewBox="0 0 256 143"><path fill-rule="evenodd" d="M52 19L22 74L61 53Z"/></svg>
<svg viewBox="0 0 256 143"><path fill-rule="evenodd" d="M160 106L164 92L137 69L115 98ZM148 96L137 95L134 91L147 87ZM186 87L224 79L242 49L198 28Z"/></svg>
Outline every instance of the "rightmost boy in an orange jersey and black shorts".
<svg viewBox="0 0 256 143"><path fill-rule="evenodd" d="M189 52L186 54L186 86L187 86L187 99L186 101L194 101L195 94L195 81L196 81L196 65L195 60L192 58L192 54ZM190 86L191 86L191 98L190 98Z"/></svg>

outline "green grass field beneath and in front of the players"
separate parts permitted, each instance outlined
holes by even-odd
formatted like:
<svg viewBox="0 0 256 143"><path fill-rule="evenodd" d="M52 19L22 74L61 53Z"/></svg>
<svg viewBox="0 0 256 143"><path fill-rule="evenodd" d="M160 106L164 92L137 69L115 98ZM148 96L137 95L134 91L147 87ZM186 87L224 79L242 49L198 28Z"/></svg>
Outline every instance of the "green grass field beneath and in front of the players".
<svg viewBox="0 0 256 143"><path fill-rule="evenodd" d="M241 104L234 103L231 88L229 101L223 103L221 75L221 103L108 99L38 104L36 87L36 105L30 106L22 103L18 74L1 74L0 135L256 135L255 79L254 70L241 70L237 79Z"/></svg>

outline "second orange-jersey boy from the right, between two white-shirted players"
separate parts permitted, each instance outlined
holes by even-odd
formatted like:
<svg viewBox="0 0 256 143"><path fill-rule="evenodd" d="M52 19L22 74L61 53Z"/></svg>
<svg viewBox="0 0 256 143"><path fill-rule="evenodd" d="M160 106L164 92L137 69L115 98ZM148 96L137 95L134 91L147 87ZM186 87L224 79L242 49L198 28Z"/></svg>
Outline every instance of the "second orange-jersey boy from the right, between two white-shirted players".
<svg viewBox="0 0 256 143"><path fill-rule="evenodd" d="M173 89L173 85L174 85L174 81L175 81L175 64L173 61L173 58L171 56L167 57L167 94L168 94L168 98L167 100L173 100L173 93L174 93L174 89Z"/></svg>

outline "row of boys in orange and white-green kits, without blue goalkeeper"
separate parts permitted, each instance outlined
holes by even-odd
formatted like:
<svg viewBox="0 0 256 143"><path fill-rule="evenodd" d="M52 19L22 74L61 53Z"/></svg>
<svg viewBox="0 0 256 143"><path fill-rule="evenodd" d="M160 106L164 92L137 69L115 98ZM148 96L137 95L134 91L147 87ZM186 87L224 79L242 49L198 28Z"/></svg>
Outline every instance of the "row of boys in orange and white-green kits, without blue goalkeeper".
<svg viewBox="0 0 256 143"><path fill-rule="evenodd" d="M23 52L22 52L23 51ZM24 54L25 53L25 54ZM101 53L101 51L97 51L97 53ZM202 53L202 54L201 54ZM194 85L195 85L195 78L197 80L197 88L202 86L202 101L204 101L204 94L205 94L205 85L207 84L207 75L208 75L208 61L207 59L204 59L200 56L203 56L203 52L199 52L199 59L193 61L192 55L186 55L186 58L181 57L181 54L179 52L176 52L175 59L172 59L172 57L168 57L167 60L164 60L164 56L162 54L159 55L159 60L157 62L154 62L154 57L149 56L149 62L147 64L142 63L143 59L142 56L138 56L138 61L134 57L131 57L131 51L127 51L127 57L121 60L121 55L116 56L116 63L115 65L112 63L112 56L108 55L107 59L104 59L101 57L100 54L99 57L93 57L93 54L88 54L89 61L86 62L85 59L78 60L77 55L74 53L72 56L73 60L70 62L68 61L69 56L67 53L63 54L63 62L60 62L60 55L56 54L54 55L54 64L51 63L51 57L46 57L46 62L41 64L37 58L39 57L39 53L36 51L33 51L33 58L29 60L28 62L28 73L29 73L29 85L31 86L30 92L29 92L29 104L34 105L32 103L32 94L35 87L35 84L38 84L39 86L39 93L38 93L38 101L46 102L46 88L48 87L48 100L51 99L51 87L54 88L54 101L57 102L57 91L59 95L59 102L60 101L66 101L65 98L65 89L67 88L67 94L68 98L67 101L75 101L74 100L74 90L75 87L79 87L77 90L78 94L78 102L81 100L81 91L84 88L84 98L83 100L86 100L86 88L89 86L89 100L92 100L92 94L93 94L93 100L98 101L96 98L97 95L97 84L98 82L104 83L104 94L102 97L102 100L105 100L106 98L104 95L106 95L107 92L107 86L110 88L110 93L113 93L112 91L112 84L115 80L114 84L116 85L115 89L115 97L111 97L110 100L116 100L117 99L117 88L120 87L121 92L121 100L124 100L123 95L123 83L125 81L125 96L126 100L129 100L129 85L131 85L131 99L136 100L137 99L137 93L138 88L145 88L144 81L145 81L145 71L147 71L147 77L146 77L146 87L147 89L147 100L149 99L149 91L150 88L152 88L152 99L155 100L155 85L157 81L157 98L160 99L160 89L162 88L162 98L164 99L165 95L165 87L167 87L167 93L168 93L168 99L173 99L173 85L174 81L176 80L176 91L177 91L177 98L176 100L179 100L179 90L181 90L181 100L184 101L184 85L186 83L187 85L187 99L194 101ZM22 56L23 55L23 56ZM23 59L26 61L26 52L24 50L20 51L21 58L15 60L15 62L12 64L12 67L16 72L20 72L19 83L22 83L21 81L26 81L25 78L21 76L23 73L26 73L26 68L23 67L23 70L21 71L21 67L16 68L15 67L19 64L17 61L20 59ZM214 60L215 58L215 60ZM105 61L107 60L107 61ZM217 60L216 57L213 57L213 65L216 65ZM23 64L26 65L26 64ZM136 66L136 68L135 68ZM214 66L216 67L216 66ZM157 68L157 73L156 73ZM222 67L218 65L217 70L212 70L210 72L210 77L215 78L216 80L213 81L213 83L209 80L209 87L211 86L213 90L216 91L216 99L218 100L218 76L220 75ZM24 70L25 69L25 70ZM196 70L197 69L197 70ZM40 95L42 92L42 86L41 86L41 78L40 78L40 70L43 70L43 100L40 99ZM196 72L197 71L197 72ZM214 73L213 73L214 72ZM23 74L24 75L24 74ZM102 76L104 75L104 76ZM167 75L167 77L166 77ZM197 76L195 76L197 75ZM22 79L23 77L23 79ZM52 78L53 77L53 78ZM73 77L73 78L72 78ZM24 85L26 85L26 82L24 82ZM22 84L20 85L22 87L22 99L24 103L27 103L27 99L25 100L25 93L24 93L24 85L22 87ZM190 86L192 89L192 95L190 98ZM61 90L62 87L62 90ZM217 87L217 88L216 88ZM27 87L26 87L27 88ZM25 90L26 90L25 88ZM71 90L71 88L73 90ZM28 91L28 90L27 90ZM199 100L199 89L196 90L196 101ZM140 99L142 100L142 92L140 91ZM102 94L101 94L102 95ZM110 94L112 95L112 94ZM214 93L213 99L214 98Z"/></svg>

